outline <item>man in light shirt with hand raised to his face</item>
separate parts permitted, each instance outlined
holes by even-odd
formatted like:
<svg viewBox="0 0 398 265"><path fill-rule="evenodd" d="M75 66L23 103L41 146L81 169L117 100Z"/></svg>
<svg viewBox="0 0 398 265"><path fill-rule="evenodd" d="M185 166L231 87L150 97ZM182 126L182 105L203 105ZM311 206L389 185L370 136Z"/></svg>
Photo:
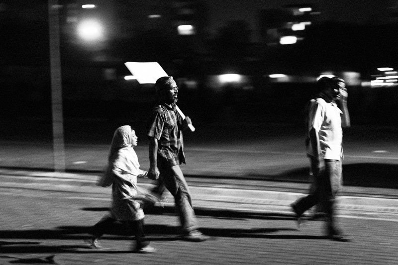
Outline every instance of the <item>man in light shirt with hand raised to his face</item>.
<svg viewBox="0 0 398 265"><path fill-rule="evenodd" d="M342 185L342 126L349 127L347 90L344 80L323 77L317 82L318 94L308 104L306 151L314 183L307 196L292 203L298 222L301 215L316 204L323 208L326 235L336 241L349 241L336 228L334 200Z"/></svg>

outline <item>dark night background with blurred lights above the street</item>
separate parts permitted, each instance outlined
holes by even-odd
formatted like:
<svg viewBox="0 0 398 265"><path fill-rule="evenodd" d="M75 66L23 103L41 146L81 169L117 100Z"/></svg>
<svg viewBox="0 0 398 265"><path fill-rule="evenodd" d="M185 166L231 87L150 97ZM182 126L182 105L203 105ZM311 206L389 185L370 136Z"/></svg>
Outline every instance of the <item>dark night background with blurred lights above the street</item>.
<svg viewBox="0 0 398 265"><path fill-rule="evenodd" d="M124 124L145 142L154 90L128 61L173 76L198 128L301 128L322 75L346 80L354 126L398 125L397 0L0 0L0 33L1 140L48 140L61 160Z"/></svg>

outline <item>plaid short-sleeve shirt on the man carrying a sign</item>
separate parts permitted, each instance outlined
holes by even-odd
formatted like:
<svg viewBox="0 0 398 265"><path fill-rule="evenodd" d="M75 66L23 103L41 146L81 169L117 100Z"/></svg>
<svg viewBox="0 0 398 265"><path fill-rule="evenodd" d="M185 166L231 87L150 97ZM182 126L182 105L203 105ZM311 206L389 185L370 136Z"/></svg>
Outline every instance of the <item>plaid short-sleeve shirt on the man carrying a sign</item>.
<svg viewBox="0 0 398 265"><path fill-rule="evenodd" d="M166 159L170 166L185 163L182 119L173 105L163 103L154 107L147 134L158 140L158 156Z"/></svg>

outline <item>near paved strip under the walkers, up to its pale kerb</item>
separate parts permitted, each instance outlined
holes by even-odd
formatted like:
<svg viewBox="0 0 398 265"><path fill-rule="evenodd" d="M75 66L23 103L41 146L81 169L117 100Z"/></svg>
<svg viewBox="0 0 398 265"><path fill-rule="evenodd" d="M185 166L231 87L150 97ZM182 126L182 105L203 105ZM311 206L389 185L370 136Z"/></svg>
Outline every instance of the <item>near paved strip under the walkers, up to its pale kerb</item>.
<svg viewBox="0 0 398 265"><path fill-rule="evenodd" d="M200 230L211 240L179 239L173 198L166 193L164 208L157 204L146 210L146 234L158 251L143 255L131 252L131 238L118 224L101 240L105 250L91 250L84 244L90 226L110 204L110 188L95 185L98 174L23 170L1 170L0 174L0 264L398 262L397 199L357 196L366 188L344 187L349 195L338 199L337 223L352 241L334 242L326 239L324 222L312 220L311 212L300 228L296 224L289 204L303 195L298 189L304 191L307 183L263 181L260 186L258 181L253 188L253 180L187 177ZM139 179L139 183L142 188L153 185L149 179ZM286 191L289 189L292 191ZM390 190L373 192L387 194Z"/></svg>

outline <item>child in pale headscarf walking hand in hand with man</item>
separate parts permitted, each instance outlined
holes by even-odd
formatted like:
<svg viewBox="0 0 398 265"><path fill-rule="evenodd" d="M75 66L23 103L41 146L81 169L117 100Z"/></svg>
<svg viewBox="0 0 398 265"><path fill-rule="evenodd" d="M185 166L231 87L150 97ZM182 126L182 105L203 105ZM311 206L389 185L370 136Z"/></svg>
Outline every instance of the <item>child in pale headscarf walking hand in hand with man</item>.
<svg viewBox="0 0 398 265"><path fill-rule="evenodd" d="M101 248L99 239L114 221L120 221L129 227L136 240L135 250L139 253L151 253L156 250L144 240L144 212L137 200L145 201L145 196L137 195L137 177L146 177L148 172L139 169L137 155L133 149L137 146L137 136L130 126L121 126L113 134L108 157L108 167L98 185L112 185L112 205L110 214L106 214L93 227L92 239L88 241L92 248Z"/></svg>

